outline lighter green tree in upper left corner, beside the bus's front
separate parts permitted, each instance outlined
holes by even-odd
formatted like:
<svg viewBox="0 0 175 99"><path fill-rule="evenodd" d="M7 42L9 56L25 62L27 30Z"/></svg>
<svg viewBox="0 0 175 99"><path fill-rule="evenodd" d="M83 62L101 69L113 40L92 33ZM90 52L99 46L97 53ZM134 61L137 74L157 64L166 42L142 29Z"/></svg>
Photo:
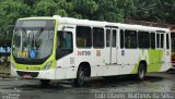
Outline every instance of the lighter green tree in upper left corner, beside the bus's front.
<svg viewBox="0 0 175 99"><path fill-rule="evenodd" d="M20 1L13 0L4 0L1 1L0 4L0 45L2 46L5 41L4 38L8 26L14 25L18 18L27 16L30 13L30 8Z"/></svg>

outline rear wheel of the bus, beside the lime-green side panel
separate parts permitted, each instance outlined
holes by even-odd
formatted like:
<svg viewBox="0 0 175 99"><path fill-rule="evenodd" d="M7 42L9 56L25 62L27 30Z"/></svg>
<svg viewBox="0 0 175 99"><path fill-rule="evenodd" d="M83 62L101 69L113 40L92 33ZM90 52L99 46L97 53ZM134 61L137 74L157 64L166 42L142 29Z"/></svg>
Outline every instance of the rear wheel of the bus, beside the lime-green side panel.
<svg viewBox="0 0 175 99"><path fill-rule="evenodd" d="M139 64L139 69L138 69L138 79L139 81L143 81L145 77L145 66L143 63Z"/></svg>

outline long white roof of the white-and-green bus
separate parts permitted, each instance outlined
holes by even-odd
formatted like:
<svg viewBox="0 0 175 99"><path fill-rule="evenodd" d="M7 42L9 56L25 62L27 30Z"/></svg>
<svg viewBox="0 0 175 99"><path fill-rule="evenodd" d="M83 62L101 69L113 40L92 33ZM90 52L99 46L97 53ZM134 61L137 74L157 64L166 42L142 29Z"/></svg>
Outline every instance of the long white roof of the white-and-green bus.
<svg viewBox="0 0 175 99"><path fill-rule="evenodd" d="M110 22L100 22L100 21L90 21L90 20L78 20L73 17L61 17L59 15L51 16L38 16L38 17L25 17L20 20L57 20L59 24L71 24L71 25L82 25L82 26L97 26L97 27L105 27L105 26L116 26L121 29L137 29L137 30L149 30L149 32L170 32L168 28L162 27L153 27L153 26L143 26L143 25L136 25L136 24L124 24L124 23L110 23Z"/></svg>

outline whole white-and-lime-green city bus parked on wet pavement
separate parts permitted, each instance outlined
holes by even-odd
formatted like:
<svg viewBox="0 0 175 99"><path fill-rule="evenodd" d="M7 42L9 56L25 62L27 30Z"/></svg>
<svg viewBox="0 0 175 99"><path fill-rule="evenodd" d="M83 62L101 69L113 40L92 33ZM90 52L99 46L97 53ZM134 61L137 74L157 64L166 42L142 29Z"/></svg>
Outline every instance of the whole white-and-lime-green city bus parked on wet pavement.
<svg viewBox="0 0 175 99"><path fill-rule="evenodd" d="M171 63L167 28L54 15L19 18L11 75L43 85L72 79L83 86L91 77L165 72Z"/></svg>

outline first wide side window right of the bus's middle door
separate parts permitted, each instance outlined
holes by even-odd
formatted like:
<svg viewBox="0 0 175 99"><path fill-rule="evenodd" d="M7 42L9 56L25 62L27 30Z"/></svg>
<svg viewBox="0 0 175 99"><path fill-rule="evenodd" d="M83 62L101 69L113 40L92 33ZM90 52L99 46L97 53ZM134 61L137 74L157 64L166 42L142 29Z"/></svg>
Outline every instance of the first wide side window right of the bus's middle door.
<svg viewBox="0 0 175 99"><path fill-rule="evenodd" d="M137 48L136 30L125 30L125 48Z"/></svg>

